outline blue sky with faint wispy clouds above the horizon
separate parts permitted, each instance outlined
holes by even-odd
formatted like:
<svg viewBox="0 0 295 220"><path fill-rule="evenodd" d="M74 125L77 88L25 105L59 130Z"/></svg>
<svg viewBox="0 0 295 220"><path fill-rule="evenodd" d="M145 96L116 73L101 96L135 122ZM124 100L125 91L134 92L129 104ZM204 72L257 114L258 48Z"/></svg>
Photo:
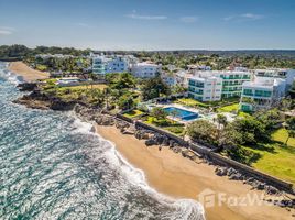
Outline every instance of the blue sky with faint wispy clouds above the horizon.
<svg viewBox="0 0 295 220"><path fill-rule="evenodd" d="M0 0L0 45L295 50L295 0Z"/></svg>

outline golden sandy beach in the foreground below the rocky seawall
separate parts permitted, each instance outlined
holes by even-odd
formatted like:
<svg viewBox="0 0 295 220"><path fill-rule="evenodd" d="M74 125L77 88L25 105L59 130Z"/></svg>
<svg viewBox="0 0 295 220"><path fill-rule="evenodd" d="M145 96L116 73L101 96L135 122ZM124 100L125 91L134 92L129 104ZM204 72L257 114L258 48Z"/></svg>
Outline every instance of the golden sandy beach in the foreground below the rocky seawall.
<svg viewBox="0 0 295 220"><path fill-rule="evenodd" d="M205 189L223 193L227 197L247 197L264 195L263 191L252 190L242 182L229 180L215 174L215 166L199 162L193 162L176 154L168 147L146 147L144 141L136 140L133 135L121 134L114 127L96 125L96 131L102 138L114 143L117 150L133 166L144 170L150 186L157 191L173 198L197 199ZM270 196L264 195L264 199ZM261 198L261 197L260 197ZM206 219L292 219L294 210L277 206L255 206L247 202L247 206L221 206L205 207Z"/></svg>

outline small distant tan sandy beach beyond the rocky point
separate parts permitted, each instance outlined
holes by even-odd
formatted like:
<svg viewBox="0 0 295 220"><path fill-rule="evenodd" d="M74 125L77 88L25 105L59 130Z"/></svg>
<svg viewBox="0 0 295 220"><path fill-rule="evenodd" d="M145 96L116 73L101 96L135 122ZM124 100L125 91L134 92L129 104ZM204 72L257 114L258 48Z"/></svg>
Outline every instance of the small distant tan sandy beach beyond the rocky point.
<svg viewBox="0 0 295 220"><path fill-rule="evenodd" d="M50 77L48 73L35 70L23 62L11 62L9 64L9 70L21 76L24 81L34 81L36 79L45 79Z"/></svg>

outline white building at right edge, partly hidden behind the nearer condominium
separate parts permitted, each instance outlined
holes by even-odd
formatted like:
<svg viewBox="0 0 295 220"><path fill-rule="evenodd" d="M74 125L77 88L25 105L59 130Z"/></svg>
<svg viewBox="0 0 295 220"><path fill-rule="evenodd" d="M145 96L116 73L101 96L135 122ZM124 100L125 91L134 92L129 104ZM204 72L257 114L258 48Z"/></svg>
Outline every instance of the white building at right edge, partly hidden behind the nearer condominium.
<svg viewBox="0 0 295 220"><path fill-rule="evenodd" d="M286 79L287 89L292 86L295 79L295 69L269 68L269 69L255 69L253 70L253 73L255 76Z"/></svg>

